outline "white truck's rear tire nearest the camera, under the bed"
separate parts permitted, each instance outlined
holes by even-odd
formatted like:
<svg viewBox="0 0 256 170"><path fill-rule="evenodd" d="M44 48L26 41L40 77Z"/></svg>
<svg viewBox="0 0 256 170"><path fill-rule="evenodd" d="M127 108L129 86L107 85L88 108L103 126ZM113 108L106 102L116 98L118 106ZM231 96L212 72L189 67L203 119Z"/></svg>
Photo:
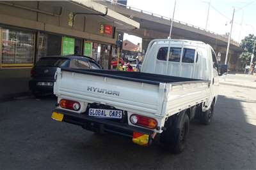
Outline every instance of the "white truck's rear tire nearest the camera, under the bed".
<svg viewBox="0 0 256 170"><path fill-rule="evenodd" d="M160 136L160 141L166 144L166 147L172 153L181 153L186 146L186 139L189 132L189 117L186 113L182 117L180 124L172 125L166 129Z"/></svg>

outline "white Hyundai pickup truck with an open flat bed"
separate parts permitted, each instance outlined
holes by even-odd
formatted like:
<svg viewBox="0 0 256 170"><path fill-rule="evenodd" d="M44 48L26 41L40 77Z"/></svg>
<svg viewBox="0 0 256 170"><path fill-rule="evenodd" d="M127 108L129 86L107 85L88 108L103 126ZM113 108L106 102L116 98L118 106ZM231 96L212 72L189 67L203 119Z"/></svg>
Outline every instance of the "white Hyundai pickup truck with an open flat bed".
<svg viewBox="0 0 256 170"><path fill-rule="evenodd" d="M184 150L189 120L211 122L218 97L216 54L200 41L155 39L141 72L58 69L54 120L150 145L156 135L174 153Z"/></svg>

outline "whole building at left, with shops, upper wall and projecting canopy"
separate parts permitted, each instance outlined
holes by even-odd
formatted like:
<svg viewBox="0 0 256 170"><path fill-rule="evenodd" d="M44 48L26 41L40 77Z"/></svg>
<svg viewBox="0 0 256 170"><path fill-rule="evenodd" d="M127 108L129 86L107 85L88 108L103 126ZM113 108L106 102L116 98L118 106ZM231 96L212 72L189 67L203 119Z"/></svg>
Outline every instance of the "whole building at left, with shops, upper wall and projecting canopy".
<svg viewBox="0 0 256 170"><path fill-rule="evenodd" d="M0 96L28 91L40 57L86 55L108 69L116 32L138 27L92 1L0 1Z"/></svg>

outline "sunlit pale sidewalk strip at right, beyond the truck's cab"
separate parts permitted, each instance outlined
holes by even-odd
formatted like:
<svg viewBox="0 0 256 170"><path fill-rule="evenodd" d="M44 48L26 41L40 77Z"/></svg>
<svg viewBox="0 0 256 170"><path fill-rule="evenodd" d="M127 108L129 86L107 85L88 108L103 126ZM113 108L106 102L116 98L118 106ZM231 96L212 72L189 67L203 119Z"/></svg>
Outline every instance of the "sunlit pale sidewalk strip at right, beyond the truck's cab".
<svg viewBox="0 0 256 170"><path fill-rule="evenodd" d="M256 89L256 76L248 74L228 74L226 77L220 76L220 84Z"/></svg>

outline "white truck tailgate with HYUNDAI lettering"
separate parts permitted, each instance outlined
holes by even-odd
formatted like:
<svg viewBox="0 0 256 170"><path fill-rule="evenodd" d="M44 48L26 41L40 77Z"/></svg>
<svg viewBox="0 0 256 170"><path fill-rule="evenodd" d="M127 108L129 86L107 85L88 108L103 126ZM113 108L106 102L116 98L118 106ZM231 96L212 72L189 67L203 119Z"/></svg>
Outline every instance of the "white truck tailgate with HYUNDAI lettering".
<svg viewBox="0 0 256 170"><path fill-rule="evenodd" d="M152 85L57 69L54 94L135 113L161 115L165 83Z"/></svg>

